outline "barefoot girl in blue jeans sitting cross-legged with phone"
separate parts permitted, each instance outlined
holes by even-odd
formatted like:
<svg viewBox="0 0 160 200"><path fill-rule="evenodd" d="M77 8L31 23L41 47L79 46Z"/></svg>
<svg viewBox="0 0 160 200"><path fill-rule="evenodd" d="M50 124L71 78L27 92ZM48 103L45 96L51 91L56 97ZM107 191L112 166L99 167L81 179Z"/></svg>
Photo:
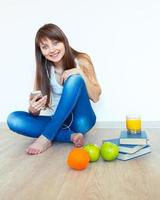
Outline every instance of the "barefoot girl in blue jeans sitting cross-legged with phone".
<svg viewBox="0 0 160 200"><path fill-rule="evenodd" d="M42 94L30 96L29 112L16 111L8 116L9 128L37 138L26 149L30 155L44 152L53 141L83 146L84 134L96 122L90 99L97 102L101 94L90 57L71 48L55 24L38 30L35 55L34 90ZM51 115L40 115L46 108L52 111Z"/></svg>

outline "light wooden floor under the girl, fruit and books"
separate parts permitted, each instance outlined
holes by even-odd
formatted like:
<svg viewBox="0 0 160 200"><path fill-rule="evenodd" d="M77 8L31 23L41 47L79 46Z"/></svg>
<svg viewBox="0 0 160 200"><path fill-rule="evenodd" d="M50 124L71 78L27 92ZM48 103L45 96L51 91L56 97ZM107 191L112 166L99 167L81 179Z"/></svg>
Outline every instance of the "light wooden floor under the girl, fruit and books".
<svg viewBox="0 0 160 200"><path fill-rule="evenodd" d="M0 129L0 200L159 200L160 129L148 129L152 152L130 161L100 159L83 171L66 165L72 144L55 143L38 156L24 153L31 138ZM119 135L95 129L86 143Z"/></svg>

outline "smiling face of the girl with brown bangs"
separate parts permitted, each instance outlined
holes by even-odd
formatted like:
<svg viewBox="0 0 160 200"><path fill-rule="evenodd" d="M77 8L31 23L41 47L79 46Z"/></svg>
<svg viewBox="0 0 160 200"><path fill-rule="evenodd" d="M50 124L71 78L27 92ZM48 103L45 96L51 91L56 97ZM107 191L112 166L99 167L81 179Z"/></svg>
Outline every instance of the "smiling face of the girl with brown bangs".
<svg viewBox="0 0 160 200"><path fill-rule="evenodd" d="M63 56L65 54L65 47L63 42L51 40L46 38L40 42L40 50L43 56L54 63L56 67L63 66Z"/></svg>

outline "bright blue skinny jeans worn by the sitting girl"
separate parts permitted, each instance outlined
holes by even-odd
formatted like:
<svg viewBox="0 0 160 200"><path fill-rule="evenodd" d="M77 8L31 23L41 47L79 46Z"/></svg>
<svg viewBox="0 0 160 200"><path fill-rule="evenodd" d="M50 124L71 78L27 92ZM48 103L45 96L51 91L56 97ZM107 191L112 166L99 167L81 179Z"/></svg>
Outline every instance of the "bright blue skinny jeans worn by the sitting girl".
<svg viewBox="0 0 160 200"><path fill-rule="evenodd" d="M7 118L9 128L29 137L44 135L51 141L70 142L72 133L89 131L96 122L86 85L80 75L65 81L61 99L52 116L34 116L15 111Z"/></svg>

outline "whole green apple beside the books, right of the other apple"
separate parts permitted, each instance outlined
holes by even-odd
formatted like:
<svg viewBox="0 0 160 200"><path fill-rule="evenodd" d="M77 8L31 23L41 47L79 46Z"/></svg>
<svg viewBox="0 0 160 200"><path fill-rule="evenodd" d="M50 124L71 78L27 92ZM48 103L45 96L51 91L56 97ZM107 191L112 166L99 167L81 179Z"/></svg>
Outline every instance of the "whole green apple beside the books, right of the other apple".
<svg viewBox="0 0 160 200"><path fill-rule="evenodd" d="M115 160L119 154L118 145L111 142L104 142L100 149L103 160Z"/></svg>

